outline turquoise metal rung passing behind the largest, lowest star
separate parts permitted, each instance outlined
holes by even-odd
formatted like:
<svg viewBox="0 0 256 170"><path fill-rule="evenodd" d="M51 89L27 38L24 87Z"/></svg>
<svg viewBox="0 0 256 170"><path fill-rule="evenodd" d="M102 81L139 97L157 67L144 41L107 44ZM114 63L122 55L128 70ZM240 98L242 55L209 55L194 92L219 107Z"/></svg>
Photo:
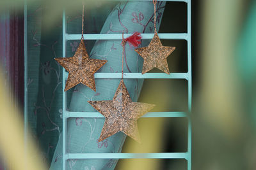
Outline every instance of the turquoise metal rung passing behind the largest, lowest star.
<svg viewBox="0 0 256 170"><path fill-rule="evenodd" d="M83 117L83 118L104 118L99 112L72 112L72 111L65 111L65 117ZM148 112L143 117L145 118L152 118L152 117L187 117L188 114L185 112L179 111L170 111L170 112Z"/></svg>

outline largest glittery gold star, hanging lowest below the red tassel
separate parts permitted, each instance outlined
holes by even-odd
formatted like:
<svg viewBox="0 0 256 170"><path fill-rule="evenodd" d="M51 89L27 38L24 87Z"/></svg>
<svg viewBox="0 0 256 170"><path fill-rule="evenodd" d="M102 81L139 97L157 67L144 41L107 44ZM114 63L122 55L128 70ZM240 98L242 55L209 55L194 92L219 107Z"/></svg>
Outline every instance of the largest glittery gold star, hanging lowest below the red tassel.
<svg viewBox="0 0 256 170"><path fill-rule="evenodd" d="M121 131L140 142L137 120L155 106L132 102L123 80L120 81L111 101L88 101L88 103L106 118L98 141Z"/></svg>

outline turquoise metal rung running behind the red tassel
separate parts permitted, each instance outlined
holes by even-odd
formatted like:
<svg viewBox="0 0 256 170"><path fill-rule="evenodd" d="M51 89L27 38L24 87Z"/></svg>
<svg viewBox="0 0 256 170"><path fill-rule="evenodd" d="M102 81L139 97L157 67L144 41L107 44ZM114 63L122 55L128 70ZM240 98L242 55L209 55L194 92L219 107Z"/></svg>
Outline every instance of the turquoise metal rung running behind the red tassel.
<svg viewBox="0 0 256 170"><path fill-rule="evenodd" d="M131 36L132 34L124 34L124 38ZM94 40L94 39L122 39L122 34L83 34L84 39ZM144 33L141 34L141 39L152 39L154 34ZM188 39L188 34L186 33L158 33L160 39ZM81 34L66 34L67 40L81 39Z"/></svg>

